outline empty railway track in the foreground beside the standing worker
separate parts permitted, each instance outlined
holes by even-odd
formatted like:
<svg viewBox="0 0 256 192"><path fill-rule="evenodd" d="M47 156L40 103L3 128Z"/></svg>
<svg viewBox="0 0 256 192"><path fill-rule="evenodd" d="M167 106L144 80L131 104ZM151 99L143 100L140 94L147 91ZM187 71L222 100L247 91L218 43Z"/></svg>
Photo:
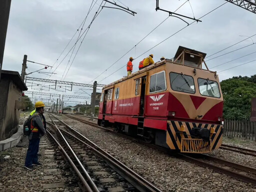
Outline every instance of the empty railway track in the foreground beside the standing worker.
<svg viewBox="0 0 256 192"><path fill-rule="evenodd" d="M51 118L54 131L48 133L63 153L71 154L72 157L65 156L87 191L161 191L72 127L52 114L49 116L61 125Z"/></svg>

